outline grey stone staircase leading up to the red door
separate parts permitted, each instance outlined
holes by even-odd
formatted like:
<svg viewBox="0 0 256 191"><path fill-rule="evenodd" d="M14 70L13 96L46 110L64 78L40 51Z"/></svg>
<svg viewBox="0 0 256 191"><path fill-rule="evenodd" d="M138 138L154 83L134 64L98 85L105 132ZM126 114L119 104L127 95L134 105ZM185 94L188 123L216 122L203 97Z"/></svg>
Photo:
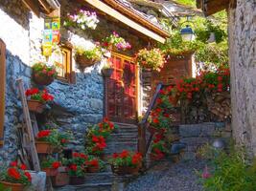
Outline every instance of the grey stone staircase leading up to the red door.
<svg viewBox="0 0 256 191"><path fill-rule="evenodd" d="M105 156L111 156L113 153L122 152L124 149L137 151L138 130L136 125L115 123L118 126L116 132L112 133L106 140ZM123 190L124 181L132 179L131 177L115 176L111 172L109 165L106 166L105 172L86 173L84 184L66 185L56 188L58 191L121 191Z"/></svg>

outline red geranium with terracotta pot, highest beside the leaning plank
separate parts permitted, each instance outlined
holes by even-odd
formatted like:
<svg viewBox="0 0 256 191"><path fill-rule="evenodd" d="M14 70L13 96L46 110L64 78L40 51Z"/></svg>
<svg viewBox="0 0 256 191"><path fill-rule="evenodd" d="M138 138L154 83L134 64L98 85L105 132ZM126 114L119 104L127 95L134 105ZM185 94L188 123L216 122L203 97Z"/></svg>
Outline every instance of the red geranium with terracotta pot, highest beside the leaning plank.
<svg viewBox="0 0 256 191"><path fill-rule="evenodd" d="M54 96L48 94L47 90L39 91L37 88L27 90L25 95L28 97L29 110L39 114L47 102L54 100Z"/></svg>

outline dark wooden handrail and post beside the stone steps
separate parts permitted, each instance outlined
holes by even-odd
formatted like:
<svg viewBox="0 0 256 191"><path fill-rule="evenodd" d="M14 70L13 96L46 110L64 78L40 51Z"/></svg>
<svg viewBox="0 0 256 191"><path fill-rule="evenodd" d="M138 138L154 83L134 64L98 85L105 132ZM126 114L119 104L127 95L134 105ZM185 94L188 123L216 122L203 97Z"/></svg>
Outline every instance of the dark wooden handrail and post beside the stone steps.
<svg viewBox="0 0 256 191"><path fill-rule="evenodd" d="M154 95L151 98L151 102L145 116L138 123L138 152L140 152L144 157L146 156L150 148L151 140L153 137L153 135L151 135L148 140L146 137L147 127L149 125L148 119L151 115L151 110L153 109L156 99L159 96L160 90L162 88L163 88L163 84L159 83L155 89Z"/></svg>

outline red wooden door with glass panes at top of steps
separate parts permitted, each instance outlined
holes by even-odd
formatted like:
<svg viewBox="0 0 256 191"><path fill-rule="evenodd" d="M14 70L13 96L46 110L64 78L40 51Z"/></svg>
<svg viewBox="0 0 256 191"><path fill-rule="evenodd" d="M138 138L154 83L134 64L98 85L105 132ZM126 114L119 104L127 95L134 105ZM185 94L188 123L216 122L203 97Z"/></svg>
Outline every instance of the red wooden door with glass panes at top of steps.
<svg viewBox="0 0 256 191"><path fill-rule="evenodd" d="M127 56L113 54L114 72L107 82L107 117L112 121L136 122L136 65Z"/></svg>

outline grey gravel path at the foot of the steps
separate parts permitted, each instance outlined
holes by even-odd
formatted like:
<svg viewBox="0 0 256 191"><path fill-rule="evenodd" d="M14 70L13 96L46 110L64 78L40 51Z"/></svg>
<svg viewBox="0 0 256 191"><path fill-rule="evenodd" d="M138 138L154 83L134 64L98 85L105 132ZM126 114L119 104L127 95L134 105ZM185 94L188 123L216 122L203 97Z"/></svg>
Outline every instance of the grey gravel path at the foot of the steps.
<svg viewBox="0 0 256 191"><path fill-rule="evenodd" d="M204 166L203 161L161 162L129 183L125 191L202 191L195 170Z"/></svg>

